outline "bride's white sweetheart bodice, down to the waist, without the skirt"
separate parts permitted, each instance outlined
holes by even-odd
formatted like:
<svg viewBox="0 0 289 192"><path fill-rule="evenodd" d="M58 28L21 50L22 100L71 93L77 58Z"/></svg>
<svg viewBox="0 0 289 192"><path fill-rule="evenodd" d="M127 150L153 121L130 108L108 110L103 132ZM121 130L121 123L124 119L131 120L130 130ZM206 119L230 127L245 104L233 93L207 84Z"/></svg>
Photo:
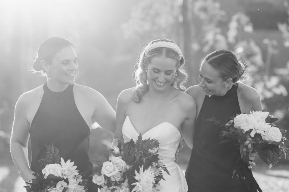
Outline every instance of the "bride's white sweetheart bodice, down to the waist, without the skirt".
<svg viewBox="0 0 289 192"><path fill-rule="evenodd" d="M124 142L129 142L131 139L137 140L139 134L136 132L128 116L125 117L122 127ZM163 159L164 163L174 162L175 153L181 141L180 131L171 123L163 122L151 128L142 135L143 139L156 139L159 145L159 158Z"/></svg>

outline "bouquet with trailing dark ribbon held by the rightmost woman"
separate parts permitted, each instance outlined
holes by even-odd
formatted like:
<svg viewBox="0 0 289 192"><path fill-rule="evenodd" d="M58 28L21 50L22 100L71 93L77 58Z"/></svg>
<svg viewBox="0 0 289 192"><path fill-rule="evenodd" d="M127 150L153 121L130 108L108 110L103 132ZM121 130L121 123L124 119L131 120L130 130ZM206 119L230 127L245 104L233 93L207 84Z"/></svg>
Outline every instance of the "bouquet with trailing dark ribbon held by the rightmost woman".
<svg viewBox="0 0 289 192"><path fill-rule="evenodd" d="M281 156L288 157L289 148L284 145L286 130L279 129L274 125L278 118L269 115L266 110L251 110L249 114L237 114L230 117L230 120L224 124L215 118L215 124L224 126L226 131L222 131L221 135L225 139L221 142L228 142L229 147L237 147L240 150L241 158L236 162L236 169L233 176L245 178L250 187L257 188L262 191L257 182L253 178L251 170L246 169L249 156L251 153L257 153L263 162L269 165L269 169L275 165Z"/></svg>

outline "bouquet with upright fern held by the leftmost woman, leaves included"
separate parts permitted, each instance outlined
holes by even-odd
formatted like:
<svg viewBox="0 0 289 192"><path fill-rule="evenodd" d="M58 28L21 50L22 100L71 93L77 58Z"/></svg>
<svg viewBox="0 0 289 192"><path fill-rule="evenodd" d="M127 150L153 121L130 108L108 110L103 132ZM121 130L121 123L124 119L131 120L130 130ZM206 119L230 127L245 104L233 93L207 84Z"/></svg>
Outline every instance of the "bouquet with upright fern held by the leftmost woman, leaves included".
<svg viewBox="0 0 289 192"><path fill-rule="evenodd" d="M27 182L25 188L37 192L86 192L86 179L73 166L74 162L70 159L65 162L59 157L59 150L52 144L46 145L47 155L39 160L43 168L40 174L34 173L35 179Z"/></svg>

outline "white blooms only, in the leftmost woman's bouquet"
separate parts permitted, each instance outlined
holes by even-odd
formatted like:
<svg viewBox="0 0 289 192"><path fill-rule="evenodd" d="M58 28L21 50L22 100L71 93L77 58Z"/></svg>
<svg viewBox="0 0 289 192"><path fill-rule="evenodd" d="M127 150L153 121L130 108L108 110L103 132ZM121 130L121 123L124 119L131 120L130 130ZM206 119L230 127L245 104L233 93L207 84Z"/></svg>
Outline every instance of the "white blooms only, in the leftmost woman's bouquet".
<svg viewBox="0 0 289 192"><path fill-rule="evenodd" d="M56 186L51 186L47 191L49 192L62 192L64 187L68 188L67 192L85 192L84 186L78 185L82 182L82 178L78 175L77 166L73 166L74 162L70 162L70 159L65 163L63 158L61 158L61 165L58 163L48 164L42 170L44 178L52 174L56 177L68 179L68 184L66 182L59 181Z"/></svg>

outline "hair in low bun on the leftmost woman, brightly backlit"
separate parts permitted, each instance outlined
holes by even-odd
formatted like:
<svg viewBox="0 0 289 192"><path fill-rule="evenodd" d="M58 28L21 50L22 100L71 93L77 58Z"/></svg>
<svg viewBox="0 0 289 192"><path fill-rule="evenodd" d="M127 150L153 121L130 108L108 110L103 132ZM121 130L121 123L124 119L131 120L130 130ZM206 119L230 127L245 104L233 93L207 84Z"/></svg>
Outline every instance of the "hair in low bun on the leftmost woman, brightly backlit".
<svg viewBox="0 0 289 192"><path fill-rule="evenodd" d="M46 76L45 71L40 66L40 61L44 60L47 63L51 63L55 54L57 54L64 47L68 46L73 46L73 44L65 38L51 37L45 39L42 43L40 43L38 51L35 54L31 71L33 71L33 73Z"/></svg>

